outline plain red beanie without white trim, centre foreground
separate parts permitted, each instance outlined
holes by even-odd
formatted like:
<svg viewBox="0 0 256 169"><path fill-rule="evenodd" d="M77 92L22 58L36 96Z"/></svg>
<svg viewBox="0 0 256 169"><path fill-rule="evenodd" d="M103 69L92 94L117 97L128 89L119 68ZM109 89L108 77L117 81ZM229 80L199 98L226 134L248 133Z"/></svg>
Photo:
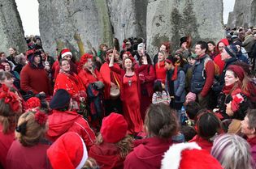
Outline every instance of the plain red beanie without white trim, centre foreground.
<svg viewBox="0 0 256 169"><path fill-rule="evenodd" d="M124 119L124 116L111 112L109 116L106 116L102 120L102 138L104 142L119 142L127 133L128 124Z"/></svg>

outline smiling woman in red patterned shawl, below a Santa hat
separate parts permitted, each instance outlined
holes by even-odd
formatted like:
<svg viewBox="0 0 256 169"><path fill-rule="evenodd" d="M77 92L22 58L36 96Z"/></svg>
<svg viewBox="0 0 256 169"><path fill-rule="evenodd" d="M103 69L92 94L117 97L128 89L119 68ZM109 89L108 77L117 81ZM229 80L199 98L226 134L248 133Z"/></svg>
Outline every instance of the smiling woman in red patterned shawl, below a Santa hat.
<svg viewBox="0 0 256 169"><path fill-rule="evenodd" d="M72 96L73 109L78 110L80 102L86 98L85 87L80 78L70 71L70 62L67 59L59 61L60 70L54 85L54 93L58 89L65 89Z"/></svg>

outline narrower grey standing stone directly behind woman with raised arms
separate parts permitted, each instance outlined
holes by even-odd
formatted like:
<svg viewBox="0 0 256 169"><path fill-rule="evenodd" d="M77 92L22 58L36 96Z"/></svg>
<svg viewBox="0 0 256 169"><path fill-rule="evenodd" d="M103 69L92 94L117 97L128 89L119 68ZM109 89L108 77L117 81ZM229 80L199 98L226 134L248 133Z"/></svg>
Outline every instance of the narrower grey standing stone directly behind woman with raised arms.
<svg viewBox="0 0 256 169"><path fill-rule="evenodd" d="M146 9L148 0L106 0L114 36L122 40L128 37L146 37Z"/></svg>

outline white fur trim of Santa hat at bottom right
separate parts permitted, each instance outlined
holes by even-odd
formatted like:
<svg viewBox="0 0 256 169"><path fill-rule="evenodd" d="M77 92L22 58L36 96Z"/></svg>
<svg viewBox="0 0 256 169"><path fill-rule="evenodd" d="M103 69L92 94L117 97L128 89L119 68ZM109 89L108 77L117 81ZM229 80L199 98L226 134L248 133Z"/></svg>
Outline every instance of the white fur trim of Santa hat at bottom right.
<svg viewBox="0 0 256 169"><path fill-rule="evenodd" d="M170 146L169 150L167 150L167 152L165 152L163 155L161 169L179 169L181 152L187 149L201 150L202 148L198 146L196 142L180 143Z"/></svg>

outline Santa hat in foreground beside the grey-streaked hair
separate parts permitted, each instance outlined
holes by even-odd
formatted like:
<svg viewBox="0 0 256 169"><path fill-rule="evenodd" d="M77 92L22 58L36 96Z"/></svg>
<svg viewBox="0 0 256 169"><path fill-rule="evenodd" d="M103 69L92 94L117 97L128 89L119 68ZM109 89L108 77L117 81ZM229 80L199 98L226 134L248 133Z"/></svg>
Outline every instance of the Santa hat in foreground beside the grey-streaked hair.
<svg viewBox="0 0 256 169"><path fill-rule="evenodd" d="M220 163L195 142L180 143L164 154L161 169L223 169Z"/></svg>

